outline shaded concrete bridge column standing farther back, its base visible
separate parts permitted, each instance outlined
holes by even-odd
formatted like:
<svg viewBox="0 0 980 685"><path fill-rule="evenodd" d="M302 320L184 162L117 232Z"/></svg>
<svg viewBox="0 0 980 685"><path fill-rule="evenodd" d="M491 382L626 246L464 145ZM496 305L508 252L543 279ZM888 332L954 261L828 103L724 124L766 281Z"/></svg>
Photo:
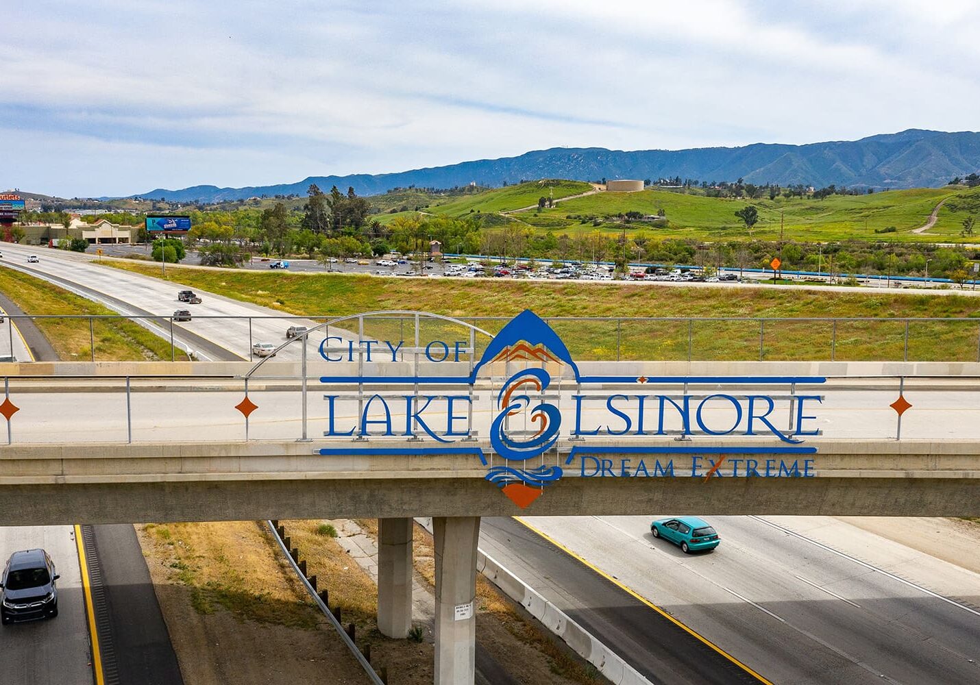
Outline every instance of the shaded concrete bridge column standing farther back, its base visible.
<svg viewBox="0 0 980 685"><path fill-rule="evenodd" d="M378 518L377 629L395 638L412 627L412 518Z"/></svg>

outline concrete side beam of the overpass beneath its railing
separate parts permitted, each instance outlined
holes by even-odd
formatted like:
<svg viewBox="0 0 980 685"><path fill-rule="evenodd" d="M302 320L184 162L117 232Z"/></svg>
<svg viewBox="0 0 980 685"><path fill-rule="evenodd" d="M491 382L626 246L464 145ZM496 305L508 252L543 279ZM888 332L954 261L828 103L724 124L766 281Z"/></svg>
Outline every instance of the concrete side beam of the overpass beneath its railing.
<svg viewBox="0 0 980 685"><path fill-rule="evenodd" d="M571 465L522 511L471 456L367 456L352 444L350 456L320 457L297 442L15 444L0 448L0 525L664 511L980 515L980 443L819 445L812 478L705 481L683 476L690 458L682 456L674 457L681 474L674 478L580 477Z"/></svg>

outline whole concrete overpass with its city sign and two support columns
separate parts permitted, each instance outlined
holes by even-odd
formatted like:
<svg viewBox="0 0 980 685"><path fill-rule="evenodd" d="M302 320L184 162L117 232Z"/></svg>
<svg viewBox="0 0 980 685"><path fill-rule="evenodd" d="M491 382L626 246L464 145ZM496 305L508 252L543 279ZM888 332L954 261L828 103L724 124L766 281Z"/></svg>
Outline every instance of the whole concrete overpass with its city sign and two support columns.
<svg viewBox="0 0 980 685"><path fill-rule="evenodd" d="M0 520L378 517L397 637L431 516L436 679L456 683L482 516L980 515L980 365L576 364L540 320L480 344L463 322L407 344L315 329L258 365L0 365Z"/></svg>

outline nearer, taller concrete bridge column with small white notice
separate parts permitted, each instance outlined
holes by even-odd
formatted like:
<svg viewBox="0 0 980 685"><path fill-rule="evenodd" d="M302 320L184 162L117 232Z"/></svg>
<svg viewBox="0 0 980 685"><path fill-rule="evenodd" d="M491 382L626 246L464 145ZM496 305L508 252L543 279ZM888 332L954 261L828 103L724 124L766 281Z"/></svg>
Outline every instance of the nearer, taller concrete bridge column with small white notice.
<svg viewBox="0 0 980 685"><path fill-rule="evenodd" d="M435 685L471 685L476 655L479 516L432 519L435 536Z"/></svg>

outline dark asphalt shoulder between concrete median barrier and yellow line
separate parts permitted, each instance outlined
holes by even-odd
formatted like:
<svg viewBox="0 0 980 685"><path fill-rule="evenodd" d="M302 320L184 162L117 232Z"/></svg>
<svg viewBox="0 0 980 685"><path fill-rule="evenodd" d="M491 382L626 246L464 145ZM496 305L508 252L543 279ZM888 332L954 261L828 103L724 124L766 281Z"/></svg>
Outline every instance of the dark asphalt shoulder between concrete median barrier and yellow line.
<svg viewBox="0 0 980 685"><path fill-rule="evenodd" d="M512 518L483 518L480 549L653 682L760 682Z"/></svg>

